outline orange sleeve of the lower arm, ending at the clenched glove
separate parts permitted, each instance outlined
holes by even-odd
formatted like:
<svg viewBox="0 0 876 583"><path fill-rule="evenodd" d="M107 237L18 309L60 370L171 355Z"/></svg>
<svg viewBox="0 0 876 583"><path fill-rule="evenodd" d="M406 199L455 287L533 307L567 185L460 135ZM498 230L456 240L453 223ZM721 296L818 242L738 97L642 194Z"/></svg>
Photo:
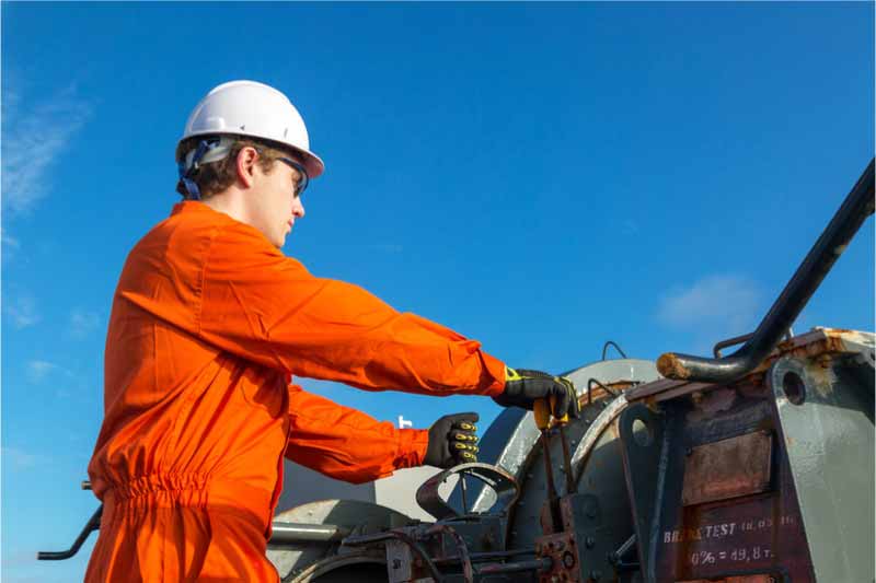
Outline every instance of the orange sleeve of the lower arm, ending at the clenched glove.
<svg viewBox="0 0 876 583"><path fill-rule="evenodd" d="M289 385L289 422L286 457L353 483L422 465L429 442L426 430L395 429L296 385Z"/></svg>

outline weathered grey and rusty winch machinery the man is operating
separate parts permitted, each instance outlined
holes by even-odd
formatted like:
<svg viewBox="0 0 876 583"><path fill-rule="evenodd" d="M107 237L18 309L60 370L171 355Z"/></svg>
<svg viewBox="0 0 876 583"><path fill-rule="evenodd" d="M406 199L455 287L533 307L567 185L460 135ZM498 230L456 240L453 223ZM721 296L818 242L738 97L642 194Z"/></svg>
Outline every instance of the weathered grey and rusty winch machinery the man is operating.
<svg viewBox="0 0 876 583"><path fill-rule="evenodd" d="M503 411L483 462L419 487L435 522L343 500L280 513L268 550L280 576L874 581L874 335L791 333L873 211L871 162L757 330L718 342L714 358L654 363L609 342L601 361L566 373L579 419ZM622 358L606 360L611 345ZM41 558L71 556L99 521L70 551Z"/></svg>

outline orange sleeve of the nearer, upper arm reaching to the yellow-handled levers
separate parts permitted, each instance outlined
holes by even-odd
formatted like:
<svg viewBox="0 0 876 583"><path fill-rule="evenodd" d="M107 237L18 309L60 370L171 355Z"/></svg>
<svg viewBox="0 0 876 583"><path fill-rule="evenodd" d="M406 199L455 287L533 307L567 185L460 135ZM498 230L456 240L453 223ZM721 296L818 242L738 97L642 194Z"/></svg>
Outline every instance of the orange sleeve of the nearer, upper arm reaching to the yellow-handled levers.
<svg viewBox="0 0 876 583"><path fill-rule="evenodd" d="M481 345L364 289L313 277L243 223L214 237L198 330L208 342L287 373L359 388L495 396L505 365Z"/></svg>

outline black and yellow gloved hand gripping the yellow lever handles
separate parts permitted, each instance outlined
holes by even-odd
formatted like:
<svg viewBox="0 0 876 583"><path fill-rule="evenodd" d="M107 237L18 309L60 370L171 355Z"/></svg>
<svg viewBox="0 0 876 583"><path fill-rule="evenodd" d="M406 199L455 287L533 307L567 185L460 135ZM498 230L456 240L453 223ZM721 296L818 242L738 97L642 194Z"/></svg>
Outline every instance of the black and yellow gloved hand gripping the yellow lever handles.
<svg viewBox="0 0 876 583"><path fill-rule="evenodd" d="M522 407L532 410L538 399L555 397L553 413L556 418L578 417L578 395L575 385L565 376L554 376L540 371L505 368L505 390L493 397L503 407Z"/></svg>

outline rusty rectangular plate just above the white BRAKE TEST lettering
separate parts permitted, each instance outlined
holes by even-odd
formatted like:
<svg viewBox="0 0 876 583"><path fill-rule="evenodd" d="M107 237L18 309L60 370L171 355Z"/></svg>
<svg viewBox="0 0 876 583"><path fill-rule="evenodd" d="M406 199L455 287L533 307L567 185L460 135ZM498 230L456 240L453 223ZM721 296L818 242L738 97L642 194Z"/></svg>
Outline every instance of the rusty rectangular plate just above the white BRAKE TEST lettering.
<svg viewBox="0 0 876 583"><path fill-rule="evenodd" d="M685 506L762 492L770 486L772 435L766 431L691 447L684 459Z"/></svg>

